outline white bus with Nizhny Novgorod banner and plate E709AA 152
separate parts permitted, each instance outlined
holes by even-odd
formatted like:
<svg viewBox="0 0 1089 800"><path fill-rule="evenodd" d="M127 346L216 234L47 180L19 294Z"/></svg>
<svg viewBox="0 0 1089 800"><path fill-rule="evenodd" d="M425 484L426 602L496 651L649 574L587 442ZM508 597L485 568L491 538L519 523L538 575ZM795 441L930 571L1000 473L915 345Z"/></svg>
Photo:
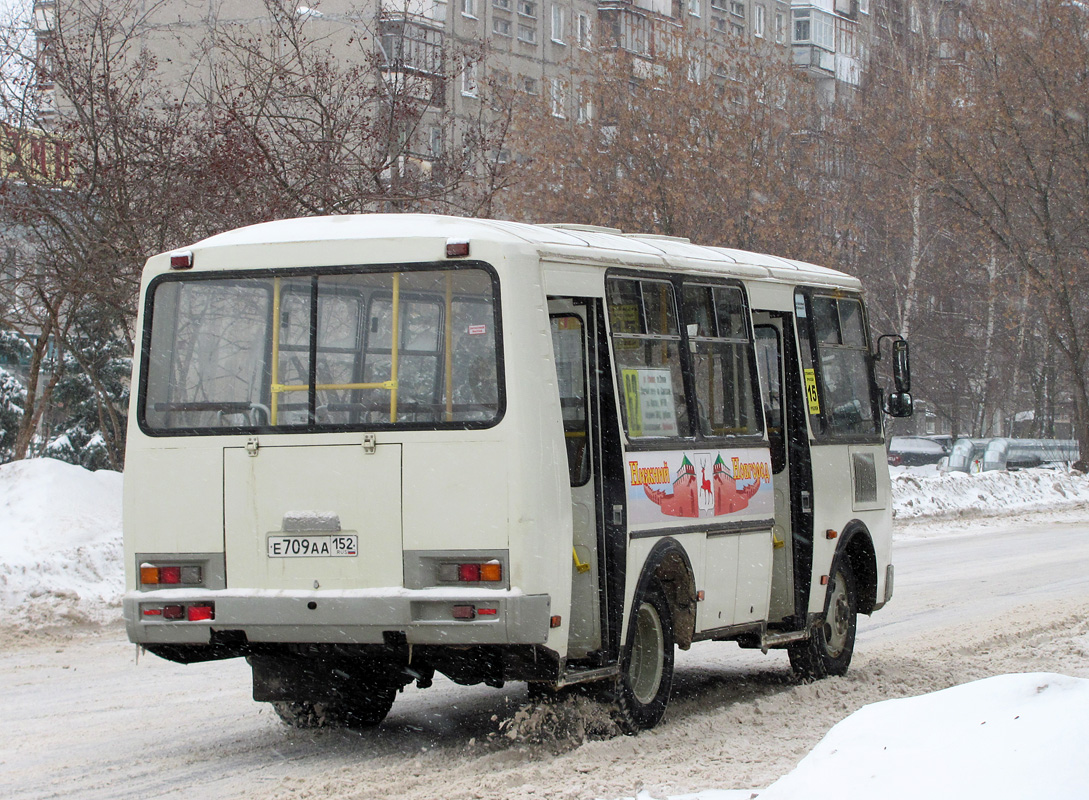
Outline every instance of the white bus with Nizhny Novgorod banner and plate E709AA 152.
<svg viewBox="0 0 1089 800"><path fill-rule="evenodd" d="M628 733L674 649L847 669L892 596L859 282L686 239L414 214L151 258L125 467L132 641L244 656L289 724L399 690L592 687Z"/></svg>

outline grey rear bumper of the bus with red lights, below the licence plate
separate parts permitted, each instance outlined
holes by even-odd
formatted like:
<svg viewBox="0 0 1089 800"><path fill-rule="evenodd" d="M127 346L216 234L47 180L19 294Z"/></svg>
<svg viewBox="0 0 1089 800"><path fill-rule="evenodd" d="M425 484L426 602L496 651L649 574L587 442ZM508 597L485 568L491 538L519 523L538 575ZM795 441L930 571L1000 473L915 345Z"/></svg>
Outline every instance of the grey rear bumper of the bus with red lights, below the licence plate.
<svg viewBox="0 0 1089 800"><path fill-rule="evenodd" d="M390 632L409 644L543 644L551 601L516 590L162 589L130 592L122 607L137 644L381 644Z"/></svg>

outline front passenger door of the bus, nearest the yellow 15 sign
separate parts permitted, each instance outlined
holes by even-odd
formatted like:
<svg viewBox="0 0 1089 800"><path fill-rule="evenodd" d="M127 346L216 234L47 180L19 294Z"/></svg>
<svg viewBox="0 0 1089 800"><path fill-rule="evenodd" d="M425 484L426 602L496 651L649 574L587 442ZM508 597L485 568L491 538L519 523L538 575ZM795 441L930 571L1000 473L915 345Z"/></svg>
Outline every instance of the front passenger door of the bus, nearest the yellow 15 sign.
<svg viewBox="0 0 1089 800"><path fill-rule="evenodd" d="M775 491L768 621L795 617L793 621L800 626L805 623L812 564L812 476L797 377L797 345L790 313L754 311L752 319Z"/></svg>

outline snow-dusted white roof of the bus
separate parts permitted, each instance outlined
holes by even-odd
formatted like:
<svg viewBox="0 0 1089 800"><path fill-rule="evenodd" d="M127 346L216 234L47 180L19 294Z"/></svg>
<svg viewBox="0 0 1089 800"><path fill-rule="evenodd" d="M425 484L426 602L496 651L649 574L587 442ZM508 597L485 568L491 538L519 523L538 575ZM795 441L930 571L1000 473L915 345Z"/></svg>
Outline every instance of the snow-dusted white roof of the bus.
<svg viewBox="0 0 1089 800"><path fill-rule="evenodd" d="M374 213L278 220L217 234L196 243L193 249L397 238L519 244L536 248L541 256L585 263L603 260L603 266L721 270L742 278L860 288L858 279L827 267L729 247L696 245L674 236L623 233L594 225L528 224L438 214Z"/></svg>

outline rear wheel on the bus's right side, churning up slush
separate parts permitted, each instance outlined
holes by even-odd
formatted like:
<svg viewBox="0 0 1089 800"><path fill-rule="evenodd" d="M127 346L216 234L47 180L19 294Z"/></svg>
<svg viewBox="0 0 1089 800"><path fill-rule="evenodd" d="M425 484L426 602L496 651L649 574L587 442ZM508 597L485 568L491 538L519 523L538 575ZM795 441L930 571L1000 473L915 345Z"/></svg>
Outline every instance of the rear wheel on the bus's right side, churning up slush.
<svg viewBox="0 0 1089 800"><path fill-rule="evenodd" d="M673 688L673 614L657 578L635 610L613 702L613 718L628 735L661 722Z"/></svg>

